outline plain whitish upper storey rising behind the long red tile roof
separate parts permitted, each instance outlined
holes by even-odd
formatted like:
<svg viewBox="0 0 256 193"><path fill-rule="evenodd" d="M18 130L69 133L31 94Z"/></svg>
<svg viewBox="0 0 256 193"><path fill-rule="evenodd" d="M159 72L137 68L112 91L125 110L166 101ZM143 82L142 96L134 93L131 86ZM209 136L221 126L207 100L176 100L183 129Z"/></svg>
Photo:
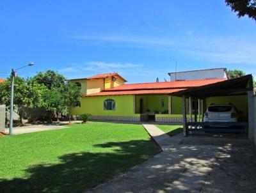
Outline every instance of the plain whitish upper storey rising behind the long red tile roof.
<svg viewBox="0 0 256 193"><path fill-rule="evenodd" d="M211 68L204 70L190 70L184 72L170 72L170 81L189 81L198 79L229 79L227 68Z"/></svg>

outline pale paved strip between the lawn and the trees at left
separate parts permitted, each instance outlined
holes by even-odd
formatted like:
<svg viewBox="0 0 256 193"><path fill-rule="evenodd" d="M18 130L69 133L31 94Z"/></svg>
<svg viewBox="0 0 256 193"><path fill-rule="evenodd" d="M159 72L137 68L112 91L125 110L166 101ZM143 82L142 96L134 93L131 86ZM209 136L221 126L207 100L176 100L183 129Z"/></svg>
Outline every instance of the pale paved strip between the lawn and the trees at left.
<svg viewBox="0 0 256 193"><path fill-rule="evenodd" d="M13 135L19 134L26 134L26 133L33 133L33 132L41 132L45 130L54 130L65 128L63 126L54 126L54 125L31 125L31 126L24 126L24 127L14 127L12 130ZM4 132L9 133L9 129L5 128Z"/></svg>

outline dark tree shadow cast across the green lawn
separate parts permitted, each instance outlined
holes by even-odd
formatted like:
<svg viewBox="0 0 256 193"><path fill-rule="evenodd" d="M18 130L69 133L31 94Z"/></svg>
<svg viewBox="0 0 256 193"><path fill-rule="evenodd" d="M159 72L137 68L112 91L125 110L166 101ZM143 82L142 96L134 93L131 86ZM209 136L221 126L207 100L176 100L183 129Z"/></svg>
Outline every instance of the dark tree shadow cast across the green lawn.
<svg viewBox="0 0 256 193"><path fill-rule="evenodd" d="M111 150L71 153L59 157L60 164L35 165L26 169L28 178L0 179L0 192L83 192L160 151L154 143L144 140L95 147L99 151Z"/></svg>

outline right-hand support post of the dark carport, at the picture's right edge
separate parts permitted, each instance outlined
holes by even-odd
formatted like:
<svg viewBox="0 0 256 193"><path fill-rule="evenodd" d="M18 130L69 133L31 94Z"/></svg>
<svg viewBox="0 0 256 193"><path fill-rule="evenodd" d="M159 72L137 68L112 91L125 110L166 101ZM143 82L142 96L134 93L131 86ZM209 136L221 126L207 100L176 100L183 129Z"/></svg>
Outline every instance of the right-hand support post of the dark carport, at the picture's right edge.
<svg viewBox="0 0 256 193"><path fill-rule="evenodd" d="M248 100L248 139L254 140L254 100L253 100L253 91L247 91L247 100Z"/></svg>

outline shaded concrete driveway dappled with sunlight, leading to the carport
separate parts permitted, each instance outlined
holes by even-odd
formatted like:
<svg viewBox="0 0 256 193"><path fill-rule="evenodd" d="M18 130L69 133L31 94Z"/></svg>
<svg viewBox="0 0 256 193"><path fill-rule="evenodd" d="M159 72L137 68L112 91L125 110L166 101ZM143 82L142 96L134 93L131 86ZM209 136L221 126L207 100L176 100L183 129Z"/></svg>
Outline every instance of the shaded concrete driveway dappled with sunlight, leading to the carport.
<svg viewBox="0 0 256 193"><path fill-rule="evenodd" d="M255 146L246 139L181 138L127 173L86 192L256 192Z"/></svg>

